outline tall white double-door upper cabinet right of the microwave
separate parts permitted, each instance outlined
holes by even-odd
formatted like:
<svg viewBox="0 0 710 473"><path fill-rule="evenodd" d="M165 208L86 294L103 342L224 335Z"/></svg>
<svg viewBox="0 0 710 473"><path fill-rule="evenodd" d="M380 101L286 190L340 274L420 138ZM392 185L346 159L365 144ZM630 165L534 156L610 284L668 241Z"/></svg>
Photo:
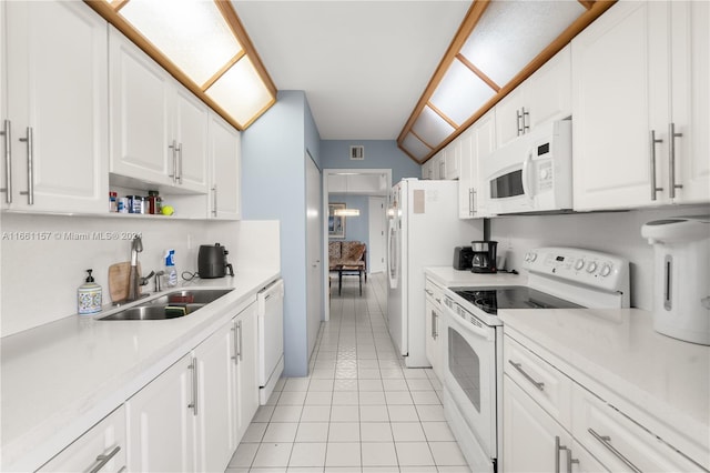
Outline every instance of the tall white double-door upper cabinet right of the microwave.
<svg viewBox="0 0 710 473"><path fill-rule="evenodd" d="M576 210L710 201L709 20L620 2L572 41Z"/></svg>

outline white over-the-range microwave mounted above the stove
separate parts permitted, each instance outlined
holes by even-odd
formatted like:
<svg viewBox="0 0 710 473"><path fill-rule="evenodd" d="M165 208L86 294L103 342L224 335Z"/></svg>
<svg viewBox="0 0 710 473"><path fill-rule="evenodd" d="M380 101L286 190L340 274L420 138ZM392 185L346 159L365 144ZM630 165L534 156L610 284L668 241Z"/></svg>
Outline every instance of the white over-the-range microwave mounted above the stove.
<svg viewBox="0 0 710 473"><path fill-rule="evenodd" d="M488 154L483 175L493 214L571 209L571 120L540 125Z"/></svg>

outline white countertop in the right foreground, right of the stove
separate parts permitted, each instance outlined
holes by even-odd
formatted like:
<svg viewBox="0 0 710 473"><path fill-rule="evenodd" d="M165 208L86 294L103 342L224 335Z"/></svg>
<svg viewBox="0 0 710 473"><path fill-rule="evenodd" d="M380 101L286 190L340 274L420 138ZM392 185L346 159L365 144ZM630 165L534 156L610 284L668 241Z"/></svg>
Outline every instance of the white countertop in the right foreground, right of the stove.
<svg viewBox="0 0 710 473"><path fill-rule="evenodd" d="M659 424L647 429L710 469L710 346L655 332L652 314L637 309L501 310L498 315L507 335L538 344L580 384L608 388L622 404L618 409L651 414Z"/></svg>

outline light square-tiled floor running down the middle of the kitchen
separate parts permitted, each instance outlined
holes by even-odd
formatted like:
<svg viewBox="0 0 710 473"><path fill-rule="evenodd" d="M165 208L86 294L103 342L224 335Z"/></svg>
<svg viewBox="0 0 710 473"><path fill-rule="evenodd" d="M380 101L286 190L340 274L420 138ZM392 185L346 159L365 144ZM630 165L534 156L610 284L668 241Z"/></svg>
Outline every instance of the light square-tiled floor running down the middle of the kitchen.
<svg viewBox="0 0 710 473"><path fill-rule="evenodd" d="M332 288L310 376L280 380L226 473L469 473L432 370L406 369L385 322L386 275Z"/></svg>

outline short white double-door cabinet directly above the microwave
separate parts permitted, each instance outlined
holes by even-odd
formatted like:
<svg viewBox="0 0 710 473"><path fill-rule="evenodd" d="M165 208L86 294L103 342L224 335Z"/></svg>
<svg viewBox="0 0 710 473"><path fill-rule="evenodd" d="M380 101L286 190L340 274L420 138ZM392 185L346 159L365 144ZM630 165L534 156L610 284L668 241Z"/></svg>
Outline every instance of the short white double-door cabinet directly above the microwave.
<svg viewBox="0 0 710 473"><path fill-rule="evenodd" d="M571 52L567 46L496 105L498 147L571 114Z"/></svg>

